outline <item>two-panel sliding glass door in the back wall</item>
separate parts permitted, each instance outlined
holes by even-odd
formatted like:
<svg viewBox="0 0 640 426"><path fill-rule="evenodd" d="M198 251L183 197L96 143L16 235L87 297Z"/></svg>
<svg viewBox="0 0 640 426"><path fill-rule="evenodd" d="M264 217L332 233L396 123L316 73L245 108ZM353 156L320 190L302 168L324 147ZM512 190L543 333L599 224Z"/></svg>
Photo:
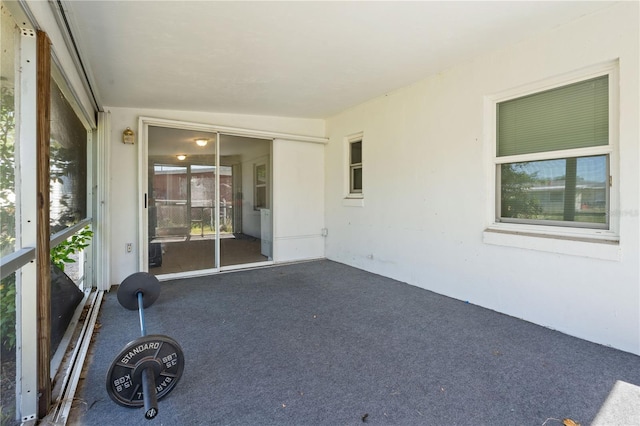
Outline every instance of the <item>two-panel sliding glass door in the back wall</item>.
<svg viewBox="0 0 640 426"><path fill-rule="evenodd" d="M149 126L147 145L150 273L271 260L270 140Z"/></svg>

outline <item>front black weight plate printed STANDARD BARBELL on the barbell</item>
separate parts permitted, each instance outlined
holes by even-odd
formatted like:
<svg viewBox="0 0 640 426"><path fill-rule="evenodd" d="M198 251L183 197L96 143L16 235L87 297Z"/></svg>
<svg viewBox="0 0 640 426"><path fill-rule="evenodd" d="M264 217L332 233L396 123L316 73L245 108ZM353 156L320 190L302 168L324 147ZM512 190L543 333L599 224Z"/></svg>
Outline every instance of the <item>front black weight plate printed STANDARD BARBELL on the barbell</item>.
<svg viewBox="0 0 640 426"><path fill-rule="evenodd" d="M167 395L180 380L184 354L168 336L149 335L127 344L113 360L107 373L107 393L123 407L142 407L142 370L155 372L156 395Z"/></svg>

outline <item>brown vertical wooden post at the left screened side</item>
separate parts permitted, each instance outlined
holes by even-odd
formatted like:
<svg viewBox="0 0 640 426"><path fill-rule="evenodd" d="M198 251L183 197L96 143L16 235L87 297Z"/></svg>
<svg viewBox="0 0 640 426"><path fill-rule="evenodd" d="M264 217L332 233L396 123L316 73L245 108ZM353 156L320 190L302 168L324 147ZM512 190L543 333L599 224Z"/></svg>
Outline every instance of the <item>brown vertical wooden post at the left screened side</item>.
<svg viewBox="0 0 640 426"><path fill-rule="evenodd" d="M51 42L46 33L36 37L37 76L37 300L38 300L38 418L43 418L51 405L51 272L49 225L49 137L51 133Z"/></svg>

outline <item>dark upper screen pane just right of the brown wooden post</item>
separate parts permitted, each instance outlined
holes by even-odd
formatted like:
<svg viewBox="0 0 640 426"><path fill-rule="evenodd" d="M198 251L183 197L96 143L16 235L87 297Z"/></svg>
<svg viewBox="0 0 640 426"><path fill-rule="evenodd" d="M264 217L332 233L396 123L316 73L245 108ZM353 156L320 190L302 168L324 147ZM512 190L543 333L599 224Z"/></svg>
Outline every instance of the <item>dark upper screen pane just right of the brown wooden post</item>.
<svg viewBox="0 0 640 426"><path fill-rule="evenodd" d="M51 80L51 233L87 217L87 130Z"/></svg>

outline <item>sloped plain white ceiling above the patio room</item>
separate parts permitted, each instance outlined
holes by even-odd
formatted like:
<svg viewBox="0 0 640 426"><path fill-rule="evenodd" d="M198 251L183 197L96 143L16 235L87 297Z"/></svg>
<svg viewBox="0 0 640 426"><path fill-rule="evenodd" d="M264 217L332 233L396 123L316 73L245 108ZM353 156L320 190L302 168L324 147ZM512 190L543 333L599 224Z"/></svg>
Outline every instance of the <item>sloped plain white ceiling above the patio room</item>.
<svg viewBox="0 0 640 426"><path fill-rule="evenodd" d="M64 3L103 106L309 118L611 4Z"/></svg>

